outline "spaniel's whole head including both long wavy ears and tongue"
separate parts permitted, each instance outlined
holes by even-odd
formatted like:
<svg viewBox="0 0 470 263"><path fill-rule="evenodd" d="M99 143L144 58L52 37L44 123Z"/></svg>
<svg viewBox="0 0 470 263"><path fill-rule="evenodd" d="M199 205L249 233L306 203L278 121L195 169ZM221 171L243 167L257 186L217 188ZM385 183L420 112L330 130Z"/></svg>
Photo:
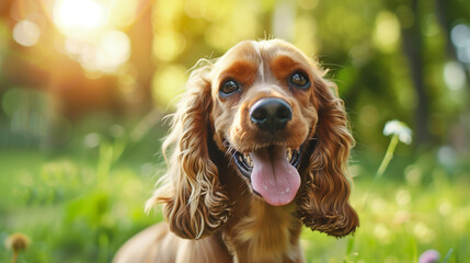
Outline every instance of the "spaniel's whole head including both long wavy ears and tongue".
<svg viewBox="0 0 470 263"><path fill-rule="evenodd" d="M193 71L164 145L174 145L171 182L150 201L165 204L174 232L200 238L230 215L210 144L231 159L254 198L295 202L313 230L354 231L345 175L354 139L343 101L322 77L313 60L279 39L242 42Z"/></svg>

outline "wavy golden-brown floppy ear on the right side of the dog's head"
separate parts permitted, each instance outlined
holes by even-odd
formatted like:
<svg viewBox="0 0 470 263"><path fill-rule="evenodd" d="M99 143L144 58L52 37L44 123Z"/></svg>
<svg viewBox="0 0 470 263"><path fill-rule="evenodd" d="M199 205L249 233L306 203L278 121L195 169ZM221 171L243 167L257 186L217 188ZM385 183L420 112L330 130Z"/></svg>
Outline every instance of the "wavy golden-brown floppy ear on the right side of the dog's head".
<svg viewBox="0 0 470 263"><path fill-rule="evenodd" d="M354 138L349 134L344 103L333 92L335 84L316 76L314 96L319 103L314 138L308 150L311 156L303 178L306 185L298 199L298 213L312 230L343 237L359 225L356 211L348 204L347 159Z"/></svg>

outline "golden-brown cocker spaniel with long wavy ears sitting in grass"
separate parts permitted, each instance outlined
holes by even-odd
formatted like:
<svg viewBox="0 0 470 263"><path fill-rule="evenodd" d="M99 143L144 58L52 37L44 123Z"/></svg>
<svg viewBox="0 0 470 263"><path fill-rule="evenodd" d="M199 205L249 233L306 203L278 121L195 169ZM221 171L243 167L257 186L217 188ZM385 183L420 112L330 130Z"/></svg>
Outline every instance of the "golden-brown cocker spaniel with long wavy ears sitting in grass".
<svg viewBox="0 0 470 263"><path fill-rule="evenodd" d="M200 65L203 64L203 65ZM247 41L193 70L150 209L167 222L115 262L303 262L302 225L354 232L343 101L317 62L280 41Z"/></svg>

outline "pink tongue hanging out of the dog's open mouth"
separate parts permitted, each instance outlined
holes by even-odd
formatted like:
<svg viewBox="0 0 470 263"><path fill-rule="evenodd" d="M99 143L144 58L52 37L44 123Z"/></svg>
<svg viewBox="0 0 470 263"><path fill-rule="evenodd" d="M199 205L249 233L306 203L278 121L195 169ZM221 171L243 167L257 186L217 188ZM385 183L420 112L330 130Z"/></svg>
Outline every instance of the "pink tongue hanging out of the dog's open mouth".
<svg viewBox="0 0 470 263"><path fill-rule="evenodd" d="M287 205L300 187L300 175L286 157L286 148L273 146L250 153L253 190L274 206Z"/></svg>

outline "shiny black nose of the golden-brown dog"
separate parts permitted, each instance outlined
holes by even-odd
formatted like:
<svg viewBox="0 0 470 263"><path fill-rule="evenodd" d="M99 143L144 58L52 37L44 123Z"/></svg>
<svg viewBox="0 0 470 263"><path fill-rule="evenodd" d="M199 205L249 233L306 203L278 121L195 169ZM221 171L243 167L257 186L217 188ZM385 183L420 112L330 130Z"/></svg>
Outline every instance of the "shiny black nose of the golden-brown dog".
<svg viewBox="0 0 470 263"><path fill-rule="evenodd" d="M274 134L293 118L293 110L282 99L261 99L251 106L250 117L257 127Z"/></svg>

